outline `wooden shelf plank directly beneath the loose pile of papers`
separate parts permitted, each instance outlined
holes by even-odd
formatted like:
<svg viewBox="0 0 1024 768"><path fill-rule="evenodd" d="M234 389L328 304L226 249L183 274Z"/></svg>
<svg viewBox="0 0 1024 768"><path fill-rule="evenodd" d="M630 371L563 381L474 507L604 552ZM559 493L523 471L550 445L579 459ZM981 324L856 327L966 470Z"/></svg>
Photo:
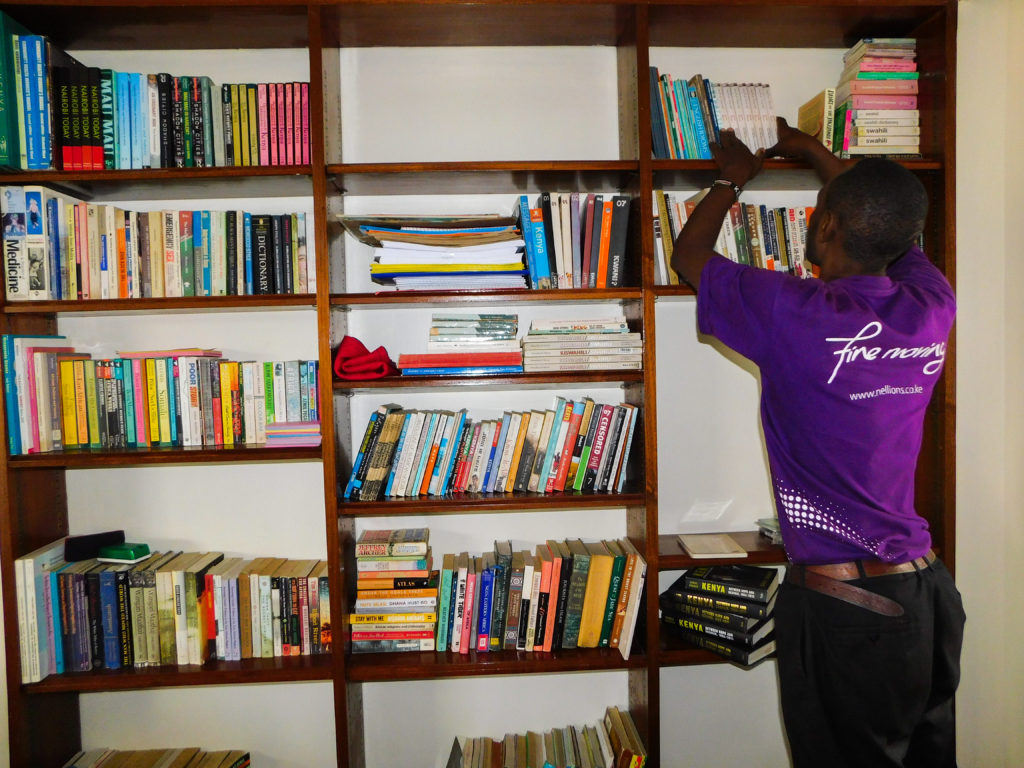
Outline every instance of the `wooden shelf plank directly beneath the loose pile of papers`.
<svg viewBox="0 0 1024 768"><path fill-rule="evenodd" d="M469 306L471 304L579 304L587 301L637 301L643 297L639 288L601 288L580 290L529 289L511 291L380 291L378 293L331 294L333 306L358 306L393 309L401 306Z"/></svg>

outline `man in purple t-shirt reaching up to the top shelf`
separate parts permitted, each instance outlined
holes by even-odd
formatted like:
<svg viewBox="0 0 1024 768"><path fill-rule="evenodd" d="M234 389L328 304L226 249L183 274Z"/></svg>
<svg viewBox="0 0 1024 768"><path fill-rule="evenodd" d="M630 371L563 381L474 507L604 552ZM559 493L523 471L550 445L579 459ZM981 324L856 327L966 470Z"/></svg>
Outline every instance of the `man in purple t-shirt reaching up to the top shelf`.
<svg viewBox="0 0 1024 768"><path fill-rule="evenodd" d="M824 186L807 232L820 280L729 261L724 216L760 170L723 131L719 178L676 240L697 322L761 370L761 419L792 565L775 607L794 765L955 765L953 692L964 611L913 506L925 410L955 312L914 246L928 199L883 159L848 170L785 124L769 153Z"/></svg>

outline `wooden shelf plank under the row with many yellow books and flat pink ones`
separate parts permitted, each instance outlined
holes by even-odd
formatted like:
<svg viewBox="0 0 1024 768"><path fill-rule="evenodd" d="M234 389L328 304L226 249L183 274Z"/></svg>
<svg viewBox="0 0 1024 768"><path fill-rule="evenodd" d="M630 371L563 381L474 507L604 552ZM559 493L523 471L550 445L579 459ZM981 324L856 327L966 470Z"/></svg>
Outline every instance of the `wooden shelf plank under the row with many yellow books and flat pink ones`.
<svg viewBox="0 0 1024 768"><path fill-rule="evenodd" d="M121 449L116 451L63 451L52 454L12 456L11 469L65 467L89 469L150 464L219 464L229 462L316 461L321 447L171 447Z"/></svg>

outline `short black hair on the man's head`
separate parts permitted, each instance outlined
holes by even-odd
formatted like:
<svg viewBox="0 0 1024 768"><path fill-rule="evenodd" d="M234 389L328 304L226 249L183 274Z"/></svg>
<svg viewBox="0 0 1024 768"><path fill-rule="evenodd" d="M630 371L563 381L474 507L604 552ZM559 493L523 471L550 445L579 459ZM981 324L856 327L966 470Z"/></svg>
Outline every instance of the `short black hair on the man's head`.
<svg viewBox="0 0 1024 768"><path fill-rule="evenodd" d="M885 158L865 158L834 178L824 203L847 256L879 269L907 252L928 215L925 185Z"/></svg>

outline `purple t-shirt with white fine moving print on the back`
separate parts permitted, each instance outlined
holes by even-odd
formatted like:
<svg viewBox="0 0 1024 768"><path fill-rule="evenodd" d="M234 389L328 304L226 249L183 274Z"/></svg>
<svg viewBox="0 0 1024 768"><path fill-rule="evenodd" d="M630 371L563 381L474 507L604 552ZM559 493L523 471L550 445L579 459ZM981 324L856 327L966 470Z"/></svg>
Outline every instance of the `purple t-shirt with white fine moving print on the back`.
<svg viewBox="0 0 1024 768"><path fill-rule="evenodd" d="M914 469L954 313L952 289L916 248L884 276L828 283L721 256L705 266L701 333L761 369L761 419L793 562L904 562L928 552Z"/></svg>

